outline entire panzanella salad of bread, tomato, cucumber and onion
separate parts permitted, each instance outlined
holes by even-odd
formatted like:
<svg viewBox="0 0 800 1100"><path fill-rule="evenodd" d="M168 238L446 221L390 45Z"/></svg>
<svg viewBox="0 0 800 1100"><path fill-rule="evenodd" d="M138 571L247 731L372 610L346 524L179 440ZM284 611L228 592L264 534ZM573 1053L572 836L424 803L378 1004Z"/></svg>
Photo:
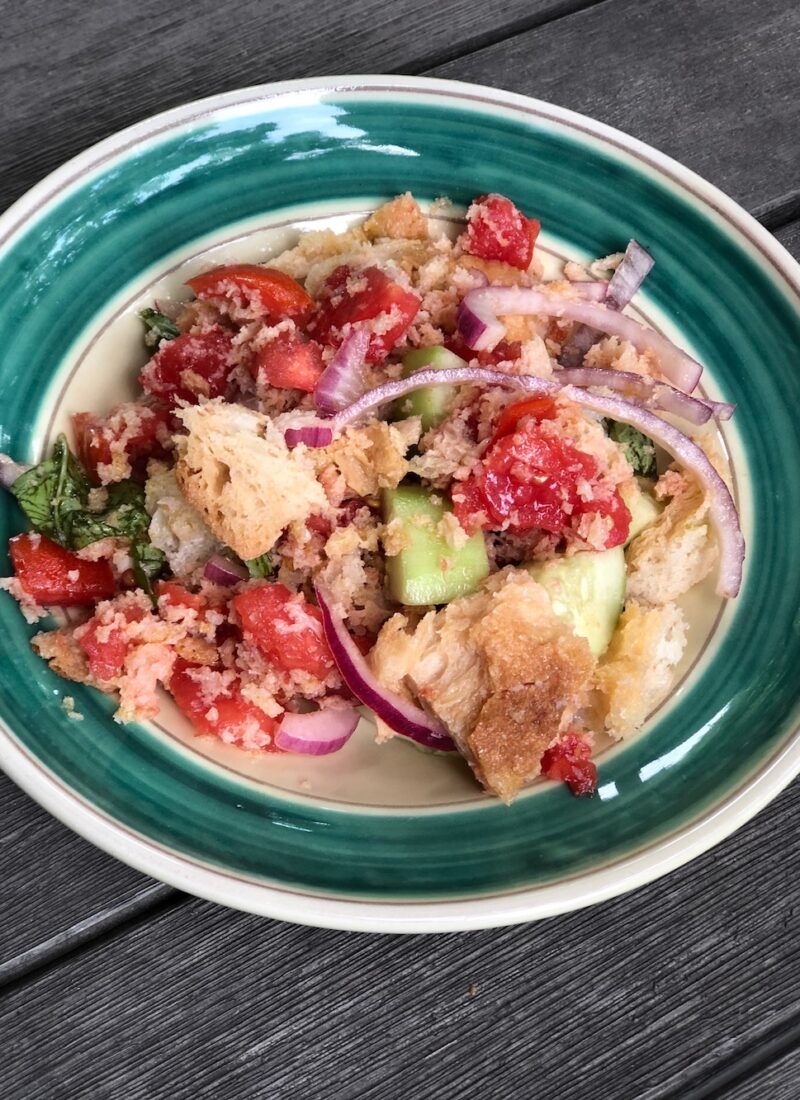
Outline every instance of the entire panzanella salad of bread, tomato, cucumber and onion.
<svg viewBox="0 0 800 1100"><path fill-rule="evenodd" d="M698 426L701 367L624 310L632 241L544 282L538 222L410 195L141 314L142 396L73 418L2 480L32 530L4 587L69 680L251 752L379 739L460 752L509 802L595 789L593 738L669 692L678 597L744 543ZM188 295L187 295L188 298ZM677 425L680 425L678 427Z"/></svg>

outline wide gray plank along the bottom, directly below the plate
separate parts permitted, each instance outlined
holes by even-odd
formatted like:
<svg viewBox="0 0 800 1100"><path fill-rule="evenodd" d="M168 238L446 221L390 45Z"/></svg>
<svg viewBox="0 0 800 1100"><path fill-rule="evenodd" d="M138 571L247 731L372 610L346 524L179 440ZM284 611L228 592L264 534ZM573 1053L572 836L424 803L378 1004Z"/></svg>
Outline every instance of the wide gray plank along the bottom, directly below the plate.
<svg viewBox="0 0 800 1100"><path fill-rule="evenodd" d="M649 888L517 928L377 937L188 902L7 993L0 1094L683 1097L793 1009L799 811L796 783Z"/></svg>

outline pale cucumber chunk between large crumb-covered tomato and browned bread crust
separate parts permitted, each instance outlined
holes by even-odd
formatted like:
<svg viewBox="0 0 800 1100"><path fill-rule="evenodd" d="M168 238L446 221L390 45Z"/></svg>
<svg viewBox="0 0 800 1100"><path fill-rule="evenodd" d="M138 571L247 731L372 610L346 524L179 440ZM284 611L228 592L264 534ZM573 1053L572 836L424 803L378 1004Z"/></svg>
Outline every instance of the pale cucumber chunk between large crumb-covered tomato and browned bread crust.
<svg viewBox="0 0 800 1100"><path fill-rule="evenodd" d="M595 657L609 648L625 603L625 553L622 547L525 566L546 590L560 619L585 638Z"/></svg>

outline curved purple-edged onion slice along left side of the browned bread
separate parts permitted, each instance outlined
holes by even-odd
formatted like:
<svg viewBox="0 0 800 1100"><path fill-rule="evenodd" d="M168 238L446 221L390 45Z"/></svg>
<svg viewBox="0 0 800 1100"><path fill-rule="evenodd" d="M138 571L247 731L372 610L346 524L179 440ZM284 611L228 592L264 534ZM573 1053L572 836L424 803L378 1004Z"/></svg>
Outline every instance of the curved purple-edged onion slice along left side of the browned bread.
<svg viewBox="0 0 800 1100"><path fill-rule="evenodd" d="M431 371L441 374L441 371ZM439 752L454 752L456 746L445 727L430 718L414 703L384 688L373 673L366 659L350 637L347 626L331 610L332 601L321 585L315 587L317 603L322 613L322 629L333 660L344 683L353 695L371 707L377 717L396 734L410 737L418 745Z"/></svg>

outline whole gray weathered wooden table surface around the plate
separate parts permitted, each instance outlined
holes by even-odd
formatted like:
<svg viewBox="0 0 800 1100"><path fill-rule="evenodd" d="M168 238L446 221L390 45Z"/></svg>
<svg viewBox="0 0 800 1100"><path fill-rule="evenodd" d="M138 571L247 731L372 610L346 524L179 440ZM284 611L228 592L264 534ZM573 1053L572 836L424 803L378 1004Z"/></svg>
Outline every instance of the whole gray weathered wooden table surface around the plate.
<svg viewBox="0 0 800 1100"><path fill-rule="evenodd" d="M200 96L428 74L620 127L800 255L797 0L6 0L2 46L0 208ZM800 1097L799 782L634 894L410 937L197 901L0 795L3 1100Z"/></svg>

